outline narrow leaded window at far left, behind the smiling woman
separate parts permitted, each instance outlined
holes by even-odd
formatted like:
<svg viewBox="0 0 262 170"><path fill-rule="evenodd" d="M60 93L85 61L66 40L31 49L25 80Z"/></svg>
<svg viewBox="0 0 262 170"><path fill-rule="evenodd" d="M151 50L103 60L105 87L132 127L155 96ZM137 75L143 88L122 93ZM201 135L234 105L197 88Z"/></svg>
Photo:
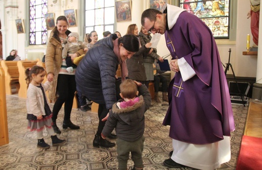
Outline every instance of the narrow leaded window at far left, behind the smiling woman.
<svg viewBox="0 0 262 170"><path fill-rule="evenodd" d="M30 0L29 45L46 44L47 28L44 15L47 13L48 0Z"/></svg>

